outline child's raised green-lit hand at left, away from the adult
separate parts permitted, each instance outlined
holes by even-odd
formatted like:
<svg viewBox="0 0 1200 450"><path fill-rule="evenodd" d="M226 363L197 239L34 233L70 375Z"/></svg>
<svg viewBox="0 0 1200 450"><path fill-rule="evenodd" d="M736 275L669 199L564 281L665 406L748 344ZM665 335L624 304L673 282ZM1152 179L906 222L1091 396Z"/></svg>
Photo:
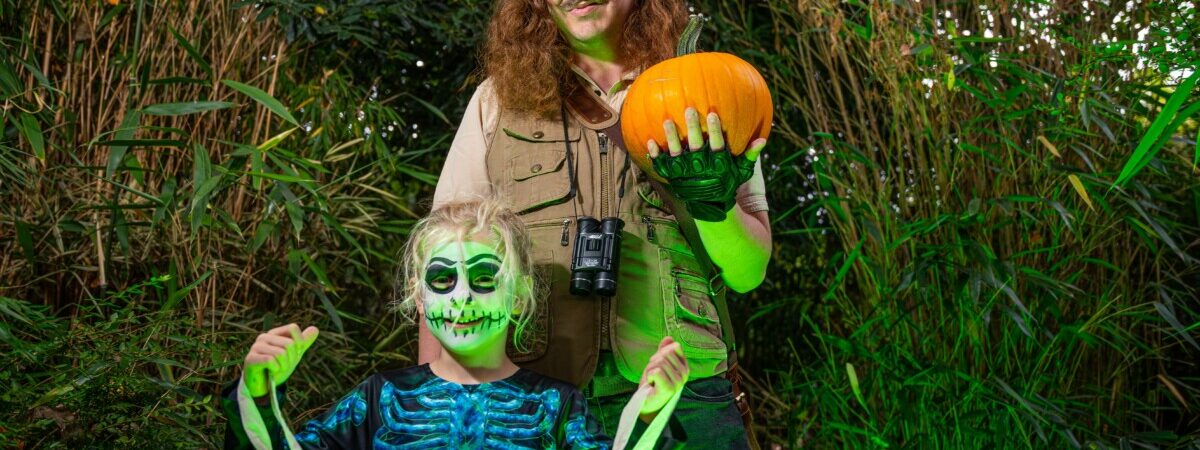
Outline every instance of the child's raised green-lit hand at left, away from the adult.
<svg viewBox="0 0 1200 450"><path fill-rule="evenodd" d="M287 380L300 364L304 352L317 341L318 332L316 326L308 326L301 334L299 325L287 324L258 335L246 354L241 373L250 396L262 397L271 389L266 385L266 373L276 384Z"/></svg>

